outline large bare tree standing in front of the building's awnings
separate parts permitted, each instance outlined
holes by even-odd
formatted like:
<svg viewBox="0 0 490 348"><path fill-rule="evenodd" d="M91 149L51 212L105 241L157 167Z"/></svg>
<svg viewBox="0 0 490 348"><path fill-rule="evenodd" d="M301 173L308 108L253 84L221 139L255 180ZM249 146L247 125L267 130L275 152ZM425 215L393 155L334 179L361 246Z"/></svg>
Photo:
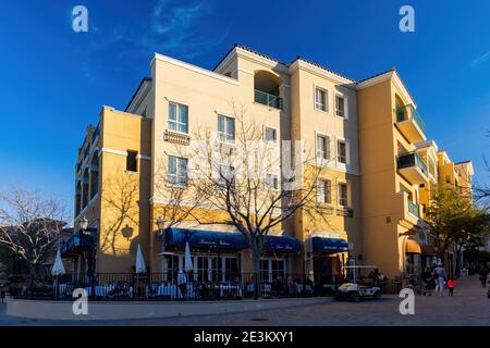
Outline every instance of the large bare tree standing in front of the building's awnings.
<svg viewBox="0 0 490 348"><path fill-rule="evenodd" d="M310 219L327 216L316 199L321 166L302 144L283 141L281 147L279 135L275 141L265 140L264 123L247 116L243 107L232 108L234 122L220 120L217 135L208 127L194 134L183 154L192 159L187 188L205 208L192 211L198 223L233 226L245 236L260 296L260 258L269 233L298 211Z"/></svg>

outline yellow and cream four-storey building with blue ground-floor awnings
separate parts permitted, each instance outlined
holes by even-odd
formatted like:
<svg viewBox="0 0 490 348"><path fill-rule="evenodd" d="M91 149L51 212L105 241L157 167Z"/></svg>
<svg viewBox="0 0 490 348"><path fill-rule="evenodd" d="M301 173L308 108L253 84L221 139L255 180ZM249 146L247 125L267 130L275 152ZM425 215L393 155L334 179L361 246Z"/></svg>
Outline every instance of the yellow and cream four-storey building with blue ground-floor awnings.
<svg viewBox="0 0 490 348"><path fill-rule="evenodd" d="M299 179L319 170L315 195L327 214L298 210L271 232L266 278L306 273L335 282L346 264L376 264L389 277L416 272L430 249L430 188L448 171L470 187L470 162L450 171L395 71L356 83L302 58L285 64L241 46L212 71L161 54L150 70L124 111L102 108L78 151L75 226L85 216L93 233L75 232L65 245L74 272L131 272L140 245L151 272L174 274L185 241L196 279L252 272L241 234L212 224L222 211L199 207L204 223L157 225L172 204L166 181L184 183L193 161L176 146L203 125L234 140L237 105L259 120L278 152L284 140L303 141ZM282 165L270 173L274 185Z"/></svg>

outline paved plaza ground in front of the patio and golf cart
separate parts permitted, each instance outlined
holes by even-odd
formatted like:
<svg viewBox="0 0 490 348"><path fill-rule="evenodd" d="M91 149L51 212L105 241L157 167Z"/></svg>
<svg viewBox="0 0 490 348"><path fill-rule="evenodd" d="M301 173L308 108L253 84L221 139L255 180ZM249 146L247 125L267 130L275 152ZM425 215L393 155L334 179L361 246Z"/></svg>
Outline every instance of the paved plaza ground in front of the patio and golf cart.
<svg viewBox="0 0 490 348"><path fill-rule="evenodd" d="M0 304L0 325L490 325L490 299L487 298L487 290L481 288L477 276L458 281L454 297L416 296L414 315L400 314L401 300L393 295L383 296L381 300L359 303L326 299L323 303L267 312L103 322L14 319L5 315L5 306Z"/></svg>

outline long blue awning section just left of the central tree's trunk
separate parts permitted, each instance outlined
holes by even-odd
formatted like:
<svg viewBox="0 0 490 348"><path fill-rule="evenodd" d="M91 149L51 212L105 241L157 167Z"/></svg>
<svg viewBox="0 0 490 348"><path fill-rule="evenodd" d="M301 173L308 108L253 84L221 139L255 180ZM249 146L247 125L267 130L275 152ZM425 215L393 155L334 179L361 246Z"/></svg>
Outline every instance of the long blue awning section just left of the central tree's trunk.
<svg viewBox="0 0 490 348"><path fill-rule="evenodd" d="M195 248L248 248L248 244L241 233L225 233L187 228L168 228L166 231L166 244L169 246L185 245L187 240L188 245Z"/></svg>

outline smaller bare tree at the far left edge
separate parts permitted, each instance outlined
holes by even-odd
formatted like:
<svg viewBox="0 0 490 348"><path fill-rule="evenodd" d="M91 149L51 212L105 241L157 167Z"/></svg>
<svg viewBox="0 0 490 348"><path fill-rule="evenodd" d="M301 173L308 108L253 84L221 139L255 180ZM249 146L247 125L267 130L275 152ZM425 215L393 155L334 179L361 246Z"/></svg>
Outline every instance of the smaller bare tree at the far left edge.
<svg viewBox="0 0 490 348"><path fill-rule="evenodd" d="M0 192L0 245L28 264L32 282L38 265L58 247L68 217L58 200L37 191L12 187Z"/></svg>

